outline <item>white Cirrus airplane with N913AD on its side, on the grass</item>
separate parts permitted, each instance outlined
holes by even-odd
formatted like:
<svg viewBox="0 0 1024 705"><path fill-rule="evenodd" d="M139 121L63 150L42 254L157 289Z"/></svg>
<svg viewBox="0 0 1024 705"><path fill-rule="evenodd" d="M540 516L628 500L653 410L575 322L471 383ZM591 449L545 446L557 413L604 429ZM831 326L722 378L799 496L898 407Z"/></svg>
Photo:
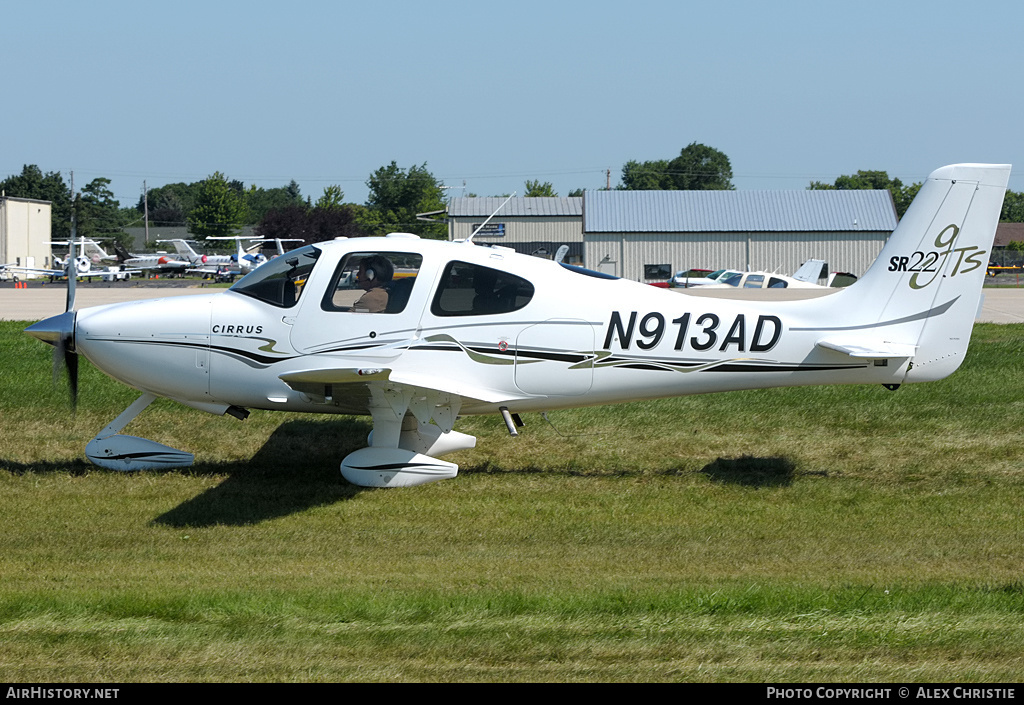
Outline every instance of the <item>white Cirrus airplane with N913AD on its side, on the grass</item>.
<svg viewBox="0 0 1024 705"><path fill-rule="evenodd" d="M525 412L949 375L968 348L1009 176L1009 165L934 171L858 282L801 300L688 296L472 238L398 235L299 248L224 293L79 312L71 301L26 332L141 390L87 445L100 466L193 462L119 434L166 397L238 418L369 415L370 445L342 474L421 485L456 476L437 456L474 447L454 430L460 414L501 414L515 436Z"/></svg>

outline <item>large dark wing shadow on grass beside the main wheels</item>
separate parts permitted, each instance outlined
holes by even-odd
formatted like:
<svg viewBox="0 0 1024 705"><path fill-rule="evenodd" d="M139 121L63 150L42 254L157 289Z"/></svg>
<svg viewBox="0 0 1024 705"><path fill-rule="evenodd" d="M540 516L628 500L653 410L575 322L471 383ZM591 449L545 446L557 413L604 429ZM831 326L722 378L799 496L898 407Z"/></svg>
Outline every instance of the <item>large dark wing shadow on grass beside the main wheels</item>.
<svg viewBox="0 0 1024 705"><path fill-rule="evenodd" d="M227 479L154 520L171 527L245 526L353 499L367 488L341 476L341 459L367 445L371 424L354 419L288 421L256 454L198 463L189 474Z"/></svg>

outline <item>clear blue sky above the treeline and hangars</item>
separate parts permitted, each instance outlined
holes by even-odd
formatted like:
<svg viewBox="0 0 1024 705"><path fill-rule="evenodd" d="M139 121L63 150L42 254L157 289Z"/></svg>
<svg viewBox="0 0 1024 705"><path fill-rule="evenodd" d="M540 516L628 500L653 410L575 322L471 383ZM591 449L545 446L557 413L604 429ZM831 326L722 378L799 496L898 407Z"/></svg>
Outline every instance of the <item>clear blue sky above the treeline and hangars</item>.
<svg viewBox="0 0 1024 705"><path fill-rule="evenodd" d="M427 163L455 195L721 150L737 189L857 169L905 182L1013 163L1024 191L1024 3L0 0L0 177L214 171L361 203Z"/></svg>

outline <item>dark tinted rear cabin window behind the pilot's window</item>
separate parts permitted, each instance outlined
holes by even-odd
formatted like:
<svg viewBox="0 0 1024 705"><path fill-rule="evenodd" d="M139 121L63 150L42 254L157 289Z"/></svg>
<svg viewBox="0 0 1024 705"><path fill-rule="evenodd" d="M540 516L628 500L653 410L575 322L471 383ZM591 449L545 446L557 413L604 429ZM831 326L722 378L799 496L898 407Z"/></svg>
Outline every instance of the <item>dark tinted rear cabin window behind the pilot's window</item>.
<svg viewBox="0 0 1024 705"><path fill-rule="evenodd" d="M521 277L479 264L453 261L444 267L430 312L434 316L487 316L519 310L534 297Z"/></svg>

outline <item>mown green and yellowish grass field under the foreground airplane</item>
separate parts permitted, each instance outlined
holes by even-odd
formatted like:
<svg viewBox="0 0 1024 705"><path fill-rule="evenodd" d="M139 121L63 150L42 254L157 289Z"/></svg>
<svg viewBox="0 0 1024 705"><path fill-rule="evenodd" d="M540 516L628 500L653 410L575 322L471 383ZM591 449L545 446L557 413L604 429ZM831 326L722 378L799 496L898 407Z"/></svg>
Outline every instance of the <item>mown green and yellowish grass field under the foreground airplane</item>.
<svg viewBox="0 0 1024 705"><path fill-rule="evenodd" d="M364 490L353 417L158 402L187 471L84 460L135 397L0 324L0 680L1019 681L1024 326L890 392L466 418L453 481Z"/></svg>

